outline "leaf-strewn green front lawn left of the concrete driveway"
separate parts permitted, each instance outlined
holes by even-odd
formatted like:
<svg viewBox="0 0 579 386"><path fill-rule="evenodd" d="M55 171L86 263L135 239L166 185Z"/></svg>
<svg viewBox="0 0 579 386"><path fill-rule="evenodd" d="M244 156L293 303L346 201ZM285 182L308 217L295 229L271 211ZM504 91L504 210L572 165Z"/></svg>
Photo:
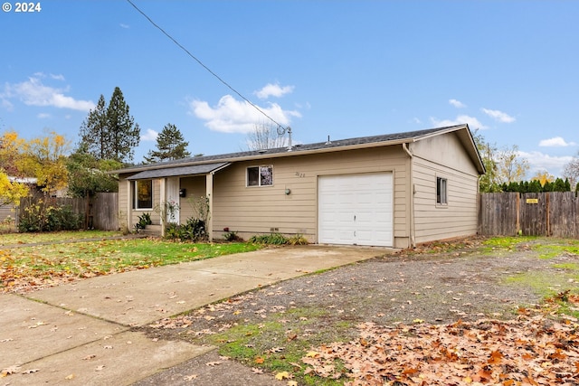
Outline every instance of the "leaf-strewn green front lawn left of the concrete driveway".
<svg viewBox="0 0 579 386"><path fill-rule="evenodd" d="M32 240L66 241L0 249L0 290L25 292L81 278L209 259L261 248L245 242L194 244L157 239L79 241L106 236L97 234L100 233L59 232L47 234L50 238L37 234L37 238ZM107 235L114 234L109 232ZM14 245L14 240L6 243L3 239L3 243ZM28 239L18 239L19 242L23 240Z"/></svg>

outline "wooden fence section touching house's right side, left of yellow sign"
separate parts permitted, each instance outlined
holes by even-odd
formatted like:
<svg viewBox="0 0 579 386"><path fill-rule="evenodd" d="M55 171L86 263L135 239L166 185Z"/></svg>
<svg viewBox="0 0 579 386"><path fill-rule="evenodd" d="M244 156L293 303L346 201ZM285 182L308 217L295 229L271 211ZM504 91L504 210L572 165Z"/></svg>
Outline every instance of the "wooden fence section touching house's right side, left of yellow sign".
<svg viewBox="0 0 579 386"><path fill-rule="evenodd" d="M479 234L517 234L518 193L480 193Z"/></svg>

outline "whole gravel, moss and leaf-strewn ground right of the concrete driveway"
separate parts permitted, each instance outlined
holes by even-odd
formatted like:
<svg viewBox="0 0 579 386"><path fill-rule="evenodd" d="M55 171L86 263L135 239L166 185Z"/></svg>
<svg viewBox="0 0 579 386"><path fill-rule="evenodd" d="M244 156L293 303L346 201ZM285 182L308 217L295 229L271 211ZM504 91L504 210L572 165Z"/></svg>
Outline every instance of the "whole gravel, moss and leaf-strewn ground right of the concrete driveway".
<svg viewBox="0 0 579 386"><path fill-rule="evenodd" d="M247 373L271 374L259 384L577 385L578 244L436 243L232 297L147 333L218 345ZM214 385L241 373L226 359L203 362L166 373Z"/></svg>

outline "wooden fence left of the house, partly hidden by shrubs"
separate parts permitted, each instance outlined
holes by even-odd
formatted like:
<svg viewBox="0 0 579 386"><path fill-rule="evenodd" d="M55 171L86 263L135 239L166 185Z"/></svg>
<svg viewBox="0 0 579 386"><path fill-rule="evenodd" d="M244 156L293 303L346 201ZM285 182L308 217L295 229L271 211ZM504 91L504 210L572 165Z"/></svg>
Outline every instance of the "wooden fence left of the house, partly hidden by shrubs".
<svg viewBox="0 0 579 386"><path fill-rule="evenodd" d="M25 208L38 202L41 198L41 196L23 198L16 214L24 211ZM55 197L50 200L52 205L68 205L72 212L80 214L85 219L84 228L86 229L119 230L119 193L97 193L89 202L85 198L70 197Z"/></svg>

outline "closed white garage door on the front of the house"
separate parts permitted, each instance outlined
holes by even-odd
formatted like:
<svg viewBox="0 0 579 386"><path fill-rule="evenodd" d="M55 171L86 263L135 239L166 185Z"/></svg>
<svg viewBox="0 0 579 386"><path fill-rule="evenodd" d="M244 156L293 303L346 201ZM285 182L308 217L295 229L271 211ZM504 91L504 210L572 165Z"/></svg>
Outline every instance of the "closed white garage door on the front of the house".
<svg viewBox="0 0 579 386"><path fill-rule="evenodd" d="M319 177L318 242L392 247L392 173Z"/></svg>

